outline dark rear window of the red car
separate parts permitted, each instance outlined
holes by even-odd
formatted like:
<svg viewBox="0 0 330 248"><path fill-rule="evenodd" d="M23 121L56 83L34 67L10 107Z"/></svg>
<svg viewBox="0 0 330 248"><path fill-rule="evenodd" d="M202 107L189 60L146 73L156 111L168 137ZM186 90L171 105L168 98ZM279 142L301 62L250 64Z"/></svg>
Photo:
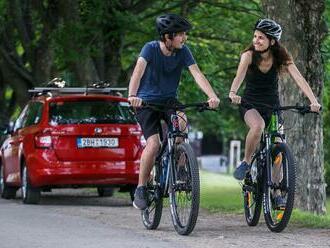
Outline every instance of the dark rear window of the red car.
<svg viewBox="0 0 330 248"><path fill-rule="evenodd" d="M49 106L51 125L136 123L127 102L79 100L51 102Z"/></svg>

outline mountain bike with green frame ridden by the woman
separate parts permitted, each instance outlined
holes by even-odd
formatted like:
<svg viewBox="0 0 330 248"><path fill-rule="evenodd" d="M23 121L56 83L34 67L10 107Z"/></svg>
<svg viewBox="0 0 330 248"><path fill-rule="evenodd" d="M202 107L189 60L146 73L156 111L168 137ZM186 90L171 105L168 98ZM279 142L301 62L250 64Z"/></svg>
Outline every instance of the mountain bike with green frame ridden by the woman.
<svg viewBox="0 0 330 248"><path fill-rule="evenodd" d="M243 107L252 106L242 99ZM271 112L269 125L263 131L260 145L254 153L251 169L242 183L244 214L249 226L259 222L261 208L267 227L273 232L283 231L289 223L296 187L296 164L279 121L281 112L296 110L300 114L314 113L309 106L263 105ZM282 198L281 206L276 197Z"/></svg>

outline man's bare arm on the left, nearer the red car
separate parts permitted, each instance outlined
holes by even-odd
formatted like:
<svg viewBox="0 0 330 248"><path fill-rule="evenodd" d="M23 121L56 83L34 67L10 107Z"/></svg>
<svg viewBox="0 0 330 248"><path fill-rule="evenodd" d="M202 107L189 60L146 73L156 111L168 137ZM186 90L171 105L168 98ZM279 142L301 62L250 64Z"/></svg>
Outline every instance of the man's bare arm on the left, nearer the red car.
<svg viewBox="0 0 330 248"><path fill-rule="evenodd" d="M146 66L147 66L147 61L143 57L139 57L136 62L136 65L135 65L135 68L134 68L134 71L133 71L133 74L132 74L132 77L131 77L131 80L130 80L129 86L128 86L128 101L131 103L131 105L133 107L139 107L142 104L141 98L138 98L136 96L136 94L139 89L140 81L144 74Z"/></svg>

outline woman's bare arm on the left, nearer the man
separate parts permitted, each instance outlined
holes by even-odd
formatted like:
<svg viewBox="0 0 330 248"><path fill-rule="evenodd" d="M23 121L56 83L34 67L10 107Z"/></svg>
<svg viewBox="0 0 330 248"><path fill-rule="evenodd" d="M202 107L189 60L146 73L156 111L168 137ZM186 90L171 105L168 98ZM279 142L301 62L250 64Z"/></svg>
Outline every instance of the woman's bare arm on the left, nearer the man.
<svg viewBox="0 0 330 248"><path fill-rule="evenodd" d="M233 101L233 103L240 104L241 102L241 97L237 95L237 91L240 88L245 78L247 69L251 63L252 51L247 51L243 53L237 68L236 76L230 87L229 98Z"/></svg>

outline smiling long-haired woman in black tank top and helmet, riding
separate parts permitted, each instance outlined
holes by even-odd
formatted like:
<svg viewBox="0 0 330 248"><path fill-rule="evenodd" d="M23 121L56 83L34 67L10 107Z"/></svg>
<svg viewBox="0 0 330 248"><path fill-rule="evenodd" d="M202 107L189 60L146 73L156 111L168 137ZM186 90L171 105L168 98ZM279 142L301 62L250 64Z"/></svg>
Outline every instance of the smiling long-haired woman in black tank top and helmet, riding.
<svg viewBox="0 0 330 248"><path fill-rule="evenodd" d="M270 19L257 21L252 44L243 51L236 77L230 88L229 98L234 104L240 104L241 97L237 95L237 91L244 80L246 86L243 99L251 105L241 105L239 108L241 118L249 127L249 132L245 141L244 159L234 172L234 177L238 180L243 180L246 172L249 171L252 155L260 141L263 129L270 121L272 113L265 106L279 105L278 77L280 74L290 74L310 100L311 111L319 112L321 107L292 57L279 43L281 34L282 28L275 21ZM280 195L275 199L278 204L281 204Z"/></svg>

